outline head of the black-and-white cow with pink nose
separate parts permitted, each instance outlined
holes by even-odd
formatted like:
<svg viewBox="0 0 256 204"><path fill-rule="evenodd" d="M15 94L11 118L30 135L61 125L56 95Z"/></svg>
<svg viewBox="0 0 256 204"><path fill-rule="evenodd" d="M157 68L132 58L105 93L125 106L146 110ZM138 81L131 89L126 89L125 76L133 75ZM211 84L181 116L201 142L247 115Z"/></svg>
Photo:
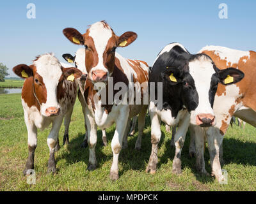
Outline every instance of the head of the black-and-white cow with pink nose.
<svg viewBox="0 0 256 204"><path fill-rule="evenodd" d="M216 124L212 106L218 83L237 83L244 73L235 68L220 70L208 55L196 54L183 67L168 68L161 76L169 85L177 85L182 103L191 113L191 124L209 127Z"/></svg>

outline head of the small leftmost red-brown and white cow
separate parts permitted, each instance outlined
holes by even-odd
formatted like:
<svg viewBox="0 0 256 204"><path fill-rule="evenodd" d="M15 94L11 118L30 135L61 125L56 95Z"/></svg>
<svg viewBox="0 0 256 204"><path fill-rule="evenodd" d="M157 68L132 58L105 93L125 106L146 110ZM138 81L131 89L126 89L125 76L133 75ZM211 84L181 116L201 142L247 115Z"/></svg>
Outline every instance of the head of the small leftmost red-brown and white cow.
<svg viewBox="0 0 256 204"><path fill-rule="evenodd" d="M40 112L45 117L60 114L60 98L64 80L74 81L81 77L77 68L62 68L60 62L52 54L36 57L33 64L19 64L13 72L22 78L33 77L33 94L40 105Z"/></svg>

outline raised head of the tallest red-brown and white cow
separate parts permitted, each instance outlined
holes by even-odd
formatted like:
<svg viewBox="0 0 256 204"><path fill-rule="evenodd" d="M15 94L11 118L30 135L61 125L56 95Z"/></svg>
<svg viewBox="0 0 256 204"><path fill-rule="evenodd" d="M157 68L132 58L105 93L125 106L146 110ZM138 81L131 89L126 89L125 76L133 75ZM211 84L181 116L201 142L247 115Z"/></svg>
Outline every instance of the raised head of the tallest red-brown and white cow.
<svg viewBox="0 0 256 204"><path fill-rule="evenodd" d="M74 28L64 29L63 34L72 43L84 45L86 71L92 82L107 82L115 68L116 48L126 47L137 38L133 32L116 36L104 21L91 25L83 35Z"/></svg>

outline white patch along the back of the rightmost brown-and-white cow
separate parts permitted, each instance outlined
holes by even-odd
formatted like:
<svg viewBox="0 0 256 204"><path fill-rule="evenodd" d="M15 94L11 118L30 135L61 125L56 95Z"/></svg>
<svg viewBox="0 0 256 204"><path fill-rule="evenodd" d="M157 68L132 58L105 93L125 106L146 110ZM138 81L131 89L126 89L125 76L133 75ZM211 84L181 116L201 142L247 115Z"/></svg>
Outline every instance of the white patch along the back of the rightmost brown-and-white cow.
<svg viewBox="0 0 256 204"><path fill-rule="evenodd" d="M241 51L241 50L234 50L227 47L220 47L220 46L206 46L203 47L198 53L202 53L203 51L214 51L214 54L218 55L220 59L227 61L227 66L229 64L238 64L241 57L248 57L250 59L250 52L249 51Z"/></svg>

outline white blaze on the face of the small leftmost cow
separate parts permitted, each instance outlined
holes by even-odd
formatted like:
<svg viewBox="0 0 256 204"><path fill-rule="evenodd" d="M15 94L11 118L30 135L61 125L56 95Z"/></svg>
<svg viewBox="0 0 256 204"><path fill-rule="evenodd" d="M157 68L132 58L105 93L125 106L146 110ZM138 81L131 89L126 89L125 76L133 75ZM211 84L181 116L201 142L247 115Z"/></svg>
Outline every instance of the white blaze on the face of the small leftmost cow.
<svg viewBox="0 0 256 204"><path fill-rule="evenodd" d="M61 64L53 54L42 55L34 62L36 72L43 78L47 91L46 103L42 103L41 113L49 107L60 108L57 100L57 86L62 75Z"/></svg>

